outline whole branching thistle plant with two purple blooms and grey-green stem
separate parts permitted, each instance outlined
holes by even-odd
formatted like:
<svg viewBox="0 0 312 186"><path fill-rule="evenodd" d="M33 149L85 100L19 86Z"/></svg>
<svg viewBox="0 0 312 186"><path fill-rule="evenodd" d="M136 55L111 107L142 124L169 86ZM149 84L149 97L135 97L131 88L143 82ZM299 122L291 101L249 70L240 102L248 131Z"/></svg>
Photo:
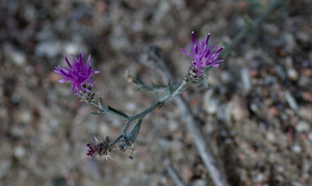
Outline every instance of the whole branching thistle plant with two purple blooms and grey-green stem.
<svg viewBox="0 0 312 186"><path fill-rule="evenodd" d="M155 91L158 97L158 100L154 102L151 106L146 108L143 112L140 112L136 115L128 116L124 112L114 109L113 107L103 106L103 101L99 97L98 101L95 101L94 95L95 92L93 90L94 81L92 79L92 75L96 73L100 73L100 71L92 71L91 70L91 56L89 55L86 64L83 62L83 54L80 51L79 58L77 59L74 55L71 56L74 61L72 64L68 61L66 55L64 54L65 60L69 66L69 68L64 68L57 66L55 67L55 72L61 75L60 83L71 81L72 82L72 91L74 95L77 95L81 101L85 101L87 103L93 104L99 108L96 112L91 112L92 115L102 115L102 114L111 114L116 117L125 120L125 125L120 135L113 141L107 136L103 138L103 140L93 140L91 143L87 144L87 155L91 157L95 157L96 159L100 158L111 158L111 150L115 144L118 145L118 150L123 151L128 158L133 159L133 156L136 150L133 147L133 143L139 133L141 123L145 115L149 114L155 108L160 108L164 102L171 97L182 94L184 91L187 91L188 87L185 87L191 81L198 81L205 75L205 68L208 66L218 67L219 63L224 60L217 60L219 58L219 54L222 51L222 48L219 49L218 46L209 46L209 37L208 34L206 41L203 39L195 40L194 32L192 32L192 41L191 41L191 51L193 54L189 53L187 50L182 49L182 52L193 58L192 64L189 66L189 70L186 75L181 78L182 81L177 85L174 85L172 81L168 82L166 86L163 85L147 85L143 81L134 78L128 73L125 74L125 78L134 83L140 90L144 91ZM128 132L129 126L132 122L134 122L133 127Z"/></svg>

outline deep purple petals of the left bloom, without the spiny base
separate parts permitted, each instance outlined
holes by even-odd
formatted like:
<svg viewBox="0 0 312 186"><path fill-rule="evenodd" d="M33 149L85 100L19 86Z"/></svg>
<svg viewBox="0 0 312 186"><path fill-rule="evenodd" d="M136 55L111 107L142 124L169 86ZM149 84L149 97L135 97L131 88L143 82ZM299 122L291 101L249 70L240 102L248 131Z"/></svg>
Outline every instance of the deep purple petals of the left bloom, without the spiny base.
<svg viewBox="0 0 312 186"><path fill-rule="evenodd" d="M63 68L60 66L55 67L55 72L62 76L63 79L58 80L60 83L65 81L71 81L73 83L73 94L77 91L77 94L80 95L80 91L82 93L93 93L90 89L94 84L92 79L92 74L97 74L100 71L91 71L91 54L88 57L88 61L86 64L83 63L82 57L83 53L80 50L79 59L77 59L74 55L69 55L74 58L73 64L71 65L64 54L64 58L69 66L68 68Z"/></svg>

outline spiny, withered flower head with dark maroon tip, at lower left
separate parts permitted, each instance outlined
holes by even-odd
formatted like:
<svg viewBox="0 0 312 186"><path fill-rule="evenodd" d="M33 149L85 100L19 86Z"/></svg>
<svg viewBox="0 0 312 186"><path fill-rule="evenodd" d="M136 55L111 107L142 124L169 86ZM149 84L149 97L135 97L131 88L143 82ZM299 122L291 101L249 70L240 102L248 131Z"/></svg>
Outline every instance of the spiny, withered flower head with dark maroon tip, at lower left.
<svg viewBox="0 0 312 186"><path fill-rule="evenodd" d="M88 153L87 155L92 158L95 157L96 160L100 159L101 157L106 158L110 158L110 151L111 151L111 147L110 147L110 138L107 136L105 138L105 140L103 141L98 141L96 138L95 140L92 140L91 143L87 144L87 148L88 148Z"/></svg>

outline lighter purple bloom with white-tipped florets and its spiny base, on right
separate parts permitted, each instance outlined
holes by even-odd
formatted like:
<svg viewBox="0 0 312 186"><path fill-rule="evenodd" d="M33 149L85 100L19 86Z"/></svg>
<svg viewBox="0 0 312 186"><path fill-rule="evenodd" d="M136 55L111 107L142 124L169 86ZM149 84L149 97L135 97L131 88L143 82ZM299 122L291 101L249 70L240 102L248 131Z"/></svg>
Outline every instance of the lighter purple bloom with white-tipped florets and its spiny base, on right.
<svg viewBox="0 0 312 186"><path fill-rule="evenodd" d="M193 41L191 41L191 50L193 52L193 55L190 54L185 49L181 48L181 51L192 57L194 60L192 60L192 65L189 67L188 76L190 80L197 81L200 77L202 77L205 74L205 68L208 66L214 66L219 67L219 63L221 61L225 60L217 60L219 58L220 52L223 50L224 47L220 48L216 45L209 46L209 37L210 34L208 34L206 41L204 39L195 40L194 32L192 32L192 38ZM215 50L214 50L215 48Z"/></svg>

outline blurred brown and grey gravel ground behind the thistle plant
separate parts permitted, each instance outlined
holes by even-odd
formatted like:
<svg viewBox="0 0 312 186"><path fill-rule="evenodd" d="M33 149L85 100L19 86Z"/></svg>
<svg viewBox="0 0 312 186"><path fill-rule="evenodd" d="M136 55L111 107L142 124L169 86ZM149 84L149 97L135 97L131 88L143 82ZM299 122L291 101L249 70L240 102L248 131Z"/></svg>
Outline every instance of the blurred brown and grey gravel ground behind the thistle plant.
<svg viewBox="0 0 312 186"><path fill-rule="evenodd" d="M158 46L181 80L191 32L225 46L219 68L183 93L230 185L312 185L312 2L285 0L249 29L273 0L0 1L0 185L175 185L168 155L186 185L213 185L172 100L144 118L133 160L90 160L94 136L115 139L124 121L94 116L54 67L63 54L91 54L96 96L134 115L153 92L135 91L126 70L162 82L144 61ZM249 25L249 26L248 26ZM205 83L204 83L205 84Z"/></svg>

